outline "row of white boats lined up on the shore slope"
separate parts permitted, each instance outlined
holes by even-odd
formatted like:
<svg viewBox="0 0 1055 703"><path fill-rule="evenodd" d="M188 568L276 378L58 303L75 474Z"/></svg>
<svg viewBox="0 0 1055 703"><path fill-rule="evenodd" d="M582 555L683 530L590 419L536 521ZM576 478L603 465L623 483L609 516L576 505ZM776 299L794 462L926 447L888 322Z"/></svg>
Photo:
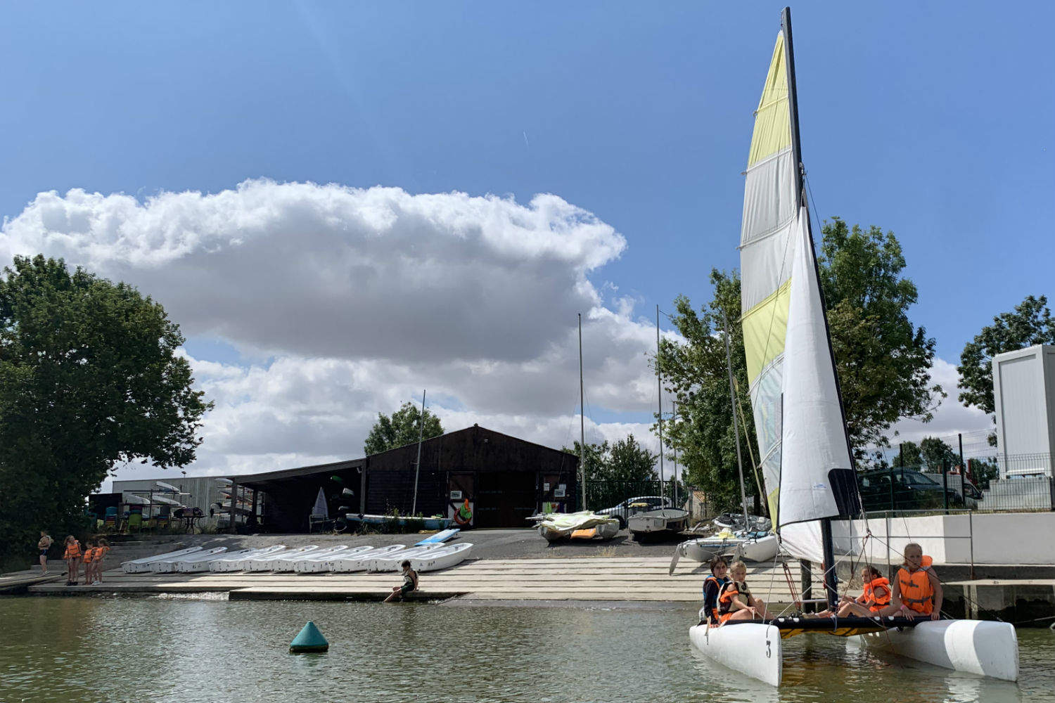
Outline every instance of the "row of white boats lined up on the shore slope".
<svg viewBox="0 0 1055 703"><path fill-rule="evenodd" d="M202 571L270 571L300 573L351 573L354 571L399 571L404 561L415 571L437 571L460 564L473 551L467 542L385 547L286 547L273 545L258 549L228 551L227 547L188 547L165 554L121 563L126 573L195 573Z"/></svg>

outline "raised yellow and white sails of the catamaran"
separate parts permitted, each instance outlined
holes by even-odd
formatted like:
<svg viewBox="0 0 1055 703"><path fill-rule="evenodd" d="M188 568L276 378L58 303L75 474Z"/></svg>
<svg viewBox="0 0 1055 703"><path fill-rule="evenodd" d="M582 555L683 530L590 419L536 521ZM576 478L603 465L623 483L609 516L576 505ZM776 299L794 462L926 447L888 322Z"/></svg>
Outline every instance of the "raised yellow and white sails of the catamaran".
<svg viewBox="0 0 1055 703"><path fill-rule="evenodd" d="M755 113L741 234L742 323L770 515L792 555L823 561L819 521L859 509L809 213L800 207L787 51Z"/></svg>

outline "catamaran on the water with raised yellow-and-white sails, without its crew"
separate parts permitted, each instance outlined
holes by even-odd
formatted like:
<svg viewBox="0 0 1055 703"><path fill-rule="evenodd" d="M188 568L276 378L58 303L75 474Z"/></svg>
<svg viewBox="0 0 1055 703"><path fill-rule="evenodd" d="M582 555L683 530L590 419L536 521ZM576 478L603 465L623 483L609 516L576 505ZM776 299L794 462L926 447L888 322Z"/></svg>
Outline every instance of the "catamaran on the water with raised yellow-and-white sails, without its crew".
<svg viewBox="0 0 1055 703"><path fill-rule="evenodd" d="M861 501L803 194L790 8L781 20L748 156L741 321L770 515L786 552L827 565L824 590L835 605L830 521L859 516ZM780 685L782 641L809 632L861 636L938 666L1018 677L1015 629L999 622L782 617L704 623L689 638L707 657Z"/></svg>

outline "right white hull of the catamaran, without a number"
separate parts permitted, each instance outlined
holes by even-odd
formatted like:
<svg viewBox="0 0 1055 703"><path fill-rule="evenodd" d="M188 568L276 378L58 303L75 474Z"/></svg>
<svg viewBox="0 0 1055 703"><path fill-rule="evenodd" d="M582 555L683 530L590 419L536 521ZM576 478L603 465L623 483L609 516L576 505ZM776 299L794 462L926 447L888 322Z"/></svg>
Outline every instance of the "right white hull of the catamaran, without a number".
<svg viewBox="0 0 1055 703"><path fill-rule="evenodd" d="M936 620L912 629L861 634L861 642L956 671L1016 681L1018 636L1011 623Z"/></svg>

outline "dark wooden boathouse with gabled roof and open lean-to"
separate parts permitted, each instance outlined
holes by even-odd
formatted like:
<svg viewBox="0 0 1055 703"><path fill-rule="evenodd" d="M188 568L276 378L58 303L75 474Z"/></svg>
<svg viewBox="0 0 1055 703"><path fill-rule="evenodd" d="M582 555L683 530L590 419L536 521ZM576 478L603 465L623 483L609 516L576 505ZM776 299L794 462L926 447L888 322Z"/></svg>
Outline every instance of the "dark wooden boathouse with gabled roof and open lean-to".
<svg viewBox="0 0 1055 703"><path fill-rule="evenodd" d="M454 518L467 501L465 527L525 527L524 519L544 504L557 511L577 505L577 456L478 425L421 443L415 501L417 461L415 443L363 458L228 479L256 515L256 529L271 532L307 532L320 489L331 518L410 515L415 508L424 516Z"/></svg>

